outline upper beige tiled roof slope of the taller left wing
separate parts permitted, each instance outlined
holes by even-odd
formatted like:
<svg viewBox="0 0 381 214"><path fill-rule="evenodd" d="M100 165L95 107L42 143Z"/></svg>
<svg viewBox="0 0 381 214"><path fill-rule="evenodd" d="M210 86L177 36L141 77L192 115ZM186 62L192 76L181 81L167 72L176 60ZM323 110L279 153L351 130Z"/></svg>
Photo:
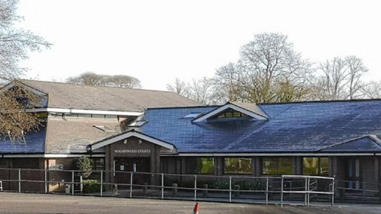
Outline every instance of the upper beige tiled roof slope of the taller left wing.
<svg viewBox="0 0 381 214"><path fill-rule="evenodd" d="M48 94L48 107L143 111L154 107L203 106L172 92L20 80Z"/></svg>

